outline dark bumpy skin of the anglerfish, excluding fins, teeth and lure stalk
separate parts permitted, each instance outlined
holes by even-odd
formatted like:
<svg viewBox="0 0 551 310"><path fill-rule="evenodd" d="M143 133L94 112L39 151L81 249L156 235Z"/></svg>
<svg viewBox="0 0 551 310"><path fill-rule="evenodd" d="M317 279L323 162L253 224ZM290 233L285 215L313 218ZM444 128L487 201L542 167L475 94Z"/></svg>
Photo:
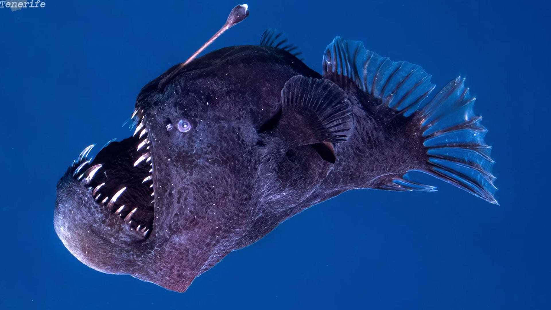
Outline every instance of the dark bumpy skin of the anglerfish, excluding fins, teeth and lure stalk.
<svg viewBox="0 0 551 310"><path fill-rule="evenodd" d="M136 151L143 141L138 134L111 143L78 173L69 168L57 186L56 232L96 270L182 292L232 250L290 216L343 191L378 188L392 175L424 168L422 139L403 134L406 117L366 104L374 99L354 83L344 87L354 124L348 141L289 147L262 130L277 127L285 82L296 75L322 78L285 50L227 47L159 84L171 70L145 85L136 103L153 187L142 185L149 164L132 165L143 154ZM177 129L180 120L191 130ZM96 164L102 164L98 173L85 180ZM122 186L126 191L108 205ZM108 199L102 203L102 197ZM134 206L138 210L128 214Z"/></svg>

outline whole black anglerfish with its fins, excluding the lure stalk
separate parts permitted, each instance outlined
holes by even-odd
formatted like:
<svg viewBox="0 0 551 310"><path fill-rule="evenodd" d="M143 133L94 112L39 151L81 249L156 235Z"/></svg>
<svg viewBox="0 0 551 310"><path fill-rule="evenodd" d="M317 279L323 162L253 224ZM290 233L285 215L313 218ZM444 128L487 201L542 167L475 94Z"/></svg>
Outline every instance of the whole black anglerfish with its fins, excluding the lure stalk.
<svg viewBox="0 0 551 310"><path fill-rule="evenodd" d="M290 51L291 50L291 51ZM138 95L134 134L57 186L55 229L84 264L174 291L279 223L350 189L434 191L422 171L489 202L486 130L457 78L336 38L323 72L268 31L259 46L175 66ZM430 98L429 98L430 97Z"/></svg>

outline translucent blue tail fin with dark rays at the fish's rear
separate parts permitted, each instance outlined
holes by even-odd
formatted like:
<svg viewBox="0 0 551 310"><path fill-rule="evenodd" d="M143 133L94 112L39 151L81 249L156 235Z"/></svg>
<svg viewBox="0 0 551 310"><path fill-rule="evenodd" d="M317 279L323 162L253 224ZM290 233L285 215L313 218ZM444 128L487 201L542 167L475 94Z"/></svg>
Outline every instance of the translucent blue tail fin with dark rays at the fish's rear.
<svg viewBox="0 0 551 310"><path fill-rule="evenodd" d="M420 127L429 155L429 173L493 204L495 177L491 147L484 143L488 131L473 113L476 98L469 95L465 79L447 84L419 111Z"/></svg>

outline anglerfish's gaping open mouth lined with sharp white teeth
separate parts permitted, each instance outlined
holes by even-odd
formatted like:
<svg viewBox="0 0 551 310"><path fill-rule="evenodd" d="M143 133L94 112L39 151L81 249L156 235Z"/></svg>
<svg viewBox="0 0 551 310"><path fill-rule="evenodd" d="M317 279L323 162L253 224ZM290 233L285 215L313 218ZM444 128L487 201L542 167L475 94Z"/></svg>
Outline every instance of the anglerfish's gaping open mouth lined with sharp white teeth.
<svg viewBox="0 0 551 310"><path fill-rule="evenodd" d="M153 229L155 193L151 143L141 114L132 115L137 126L131 137L108 143L90 159L94 145L88 146L68 173L91 191L98 207L110 212L108 220L147 238Z"/></svg>

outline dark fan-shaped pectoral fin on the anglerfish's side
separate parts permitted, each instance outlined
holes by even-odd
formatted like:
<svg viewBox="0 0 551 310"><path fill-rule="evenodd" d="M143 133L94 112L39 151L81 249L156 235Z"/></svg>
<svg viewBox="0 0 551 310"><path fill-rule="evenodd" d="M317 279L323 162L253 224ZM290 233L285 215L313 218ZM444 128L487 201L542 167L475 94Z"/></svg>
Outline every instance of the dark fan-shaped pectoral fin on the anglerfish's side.
<svg viewBox="0 0 551 310"><path fill-rule="evenodd" d="M281 92L281 116L274 136L288 146L346 141L352 131L347 94L327 79L294 76Z"/></svg>

